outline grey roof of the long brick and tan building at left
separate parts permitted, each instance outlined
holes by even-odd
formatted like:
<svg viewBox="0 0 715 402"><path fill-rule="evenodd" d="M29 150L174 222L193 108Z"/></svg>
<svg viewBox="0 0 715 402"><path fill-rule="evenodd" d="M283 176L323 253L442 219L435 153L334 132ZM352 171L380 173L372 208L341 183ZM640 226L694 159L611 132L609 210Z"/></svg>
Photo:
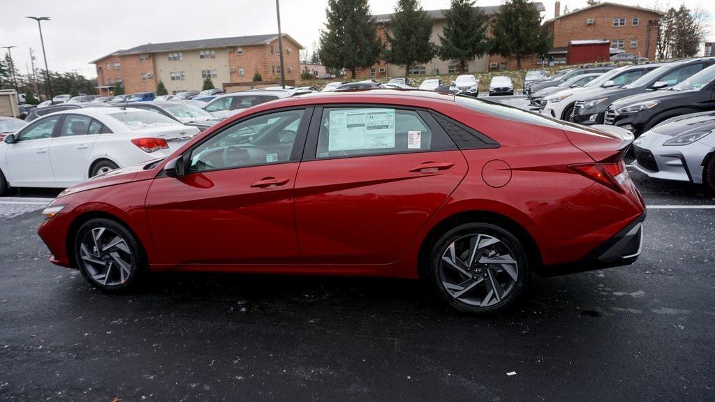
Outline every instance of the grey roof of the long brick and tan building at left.
<svg viewBox="0 0 715 402"><path fill-rule="evenodd" d="M282 37L290 39L297 44L298 49L303 49L303 46L293 39L289 34L282 34ZM257 44L270 44L270 42L278 39L278 34L265 35L249 35L249 36L232 36L230 38L213 38L213 39L197 39L194 41L176 41L165 43L148 43L139 46L134 46L131 49L117 50L92 60L90 63L96 63L109 56L124 56L125 54L143 54L143 53L162 53L162 52L181 52L183 50L196 49L216 49L218 47L230 46L252 46Z"/></svg>

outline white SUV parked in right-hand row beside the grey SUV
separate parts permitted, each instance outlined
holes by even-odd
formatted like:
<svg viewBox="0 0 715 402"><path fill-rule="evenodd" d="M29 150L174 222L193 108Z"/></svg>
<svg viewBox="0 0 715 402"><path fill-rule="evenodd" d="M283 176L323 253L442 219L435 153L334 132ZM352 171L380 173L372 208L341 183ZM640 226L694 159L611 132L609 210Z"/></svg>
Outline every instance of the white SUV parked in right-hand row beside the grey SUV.
<svg viewBox="0 0 715 402"><path fill-rule="evenodd" d="M601 77L594 79L583 87L568 88L560 92L549 94L545 99L547 102L541 104L541 114L568 121L578 102L583 104L583 101L592 99L598 92L630 84L647 72L662 65L664 65L664 63L636 64L634 66L619 67L618 69L603 73Z"/></svg>

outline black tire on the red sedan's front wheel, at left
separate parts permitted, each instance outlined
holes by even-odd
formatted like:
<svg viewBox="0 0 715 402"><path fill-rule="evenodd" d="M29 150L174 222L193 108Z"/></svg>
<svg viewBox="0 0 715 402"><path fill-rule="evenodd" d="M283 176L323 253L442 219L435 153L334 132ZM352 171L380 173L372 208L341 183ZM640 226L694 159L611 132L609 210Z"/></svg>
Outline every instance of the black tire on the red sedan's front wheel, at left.
<svg viewBox="0 0 715 402"><path fill-rule="evenodd" d="M87 236L91 238L93 230L99 232L101 228L104 228L104 231L102 231L102 240L99 242L99 247L106 247L111 244L114 240L114 236L121 237L122 240L124 240L127 253L124 253L124 247L117 247L114 248L114 251L112 251L112 248L109 248L107 254L116 253L117 258L121 258L125 263L128 263L130 271L128 274L126 270L121 269L121 265L117 263L116 258L104 258L104 255L101 255L102 253L97 253L97 247L87 247L87 245L85 245L84 249L91 253L89 255L82 250L83 240ZM137 288L137 285L141 283L142 278L148 271L147 258L144 255L144 250L139 245L139 242L137 242L137 238L134 237L132 232L127 230L124 225L119 224L117 221L107 218L95 218L84 222L84 225L79 227L77 235L74 237L73 245L74 260L77 268L79 268L79 271L87 282L104 292L124 293L128 290L134 290ZM101 278L102 270L104 269L102 265L90 263L83 258L83 256L87 256L94 261L104 261L107 262L107 264L113 264L112 267L107 270L109 275L104 275L104 283ZM119 268L119 270L117 270L117 268ZM107 284L110 280L112 282Z"/></svg>

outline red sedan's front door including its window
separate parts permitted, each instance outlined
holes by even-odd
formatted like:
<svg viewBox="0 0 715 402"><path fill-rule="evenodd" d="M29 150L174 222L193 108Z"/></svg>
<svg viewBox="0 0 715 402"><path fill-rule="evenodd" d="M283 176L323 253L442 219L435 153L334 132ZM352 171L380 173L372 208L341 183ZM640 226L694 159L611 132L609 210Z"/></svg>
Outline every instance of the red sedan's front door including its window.
<svg viewBox="0 0 715 402"><path fill-rule="evenodd" d="M296 263L293 187L311 114L242 119L184 154L186 175L154 180L146 203L152 263Z"/></svg>

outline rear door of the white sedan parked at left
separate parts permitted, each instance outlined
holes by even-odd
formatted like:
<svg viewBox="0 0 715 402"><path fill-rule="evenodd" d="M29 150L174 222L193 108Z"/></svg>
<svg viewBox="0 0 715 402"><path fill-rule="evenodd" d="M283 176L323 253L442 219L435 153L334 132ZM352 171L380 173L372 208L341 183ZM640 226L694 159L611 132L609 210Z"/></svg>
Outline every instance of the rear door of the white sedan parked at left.
<svg viewBox="0 0 715 402"><path fill-rule="evenodd" d="M89 177L87 160L103 124L82 114L64 114L49 149L57 185L74 185Z"/></svg>

